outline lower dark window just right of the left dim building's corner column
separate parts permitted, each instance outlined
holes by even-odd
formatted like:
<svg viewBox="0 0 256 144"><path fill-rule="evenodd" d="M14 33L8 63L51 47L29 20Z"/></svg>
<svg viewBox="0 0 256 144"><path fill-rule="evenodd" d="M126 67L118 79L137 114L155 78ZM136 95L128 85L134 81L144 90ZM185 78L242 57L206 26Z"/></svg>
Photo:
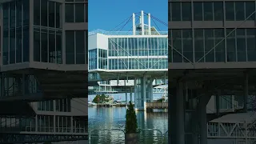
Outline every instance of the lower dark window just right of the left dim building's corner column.
<svg viewBox="0 0 256 144"><path fill-rule="evenodd" d="M40 62L40 33L34 31L34 61Z"/></svg>

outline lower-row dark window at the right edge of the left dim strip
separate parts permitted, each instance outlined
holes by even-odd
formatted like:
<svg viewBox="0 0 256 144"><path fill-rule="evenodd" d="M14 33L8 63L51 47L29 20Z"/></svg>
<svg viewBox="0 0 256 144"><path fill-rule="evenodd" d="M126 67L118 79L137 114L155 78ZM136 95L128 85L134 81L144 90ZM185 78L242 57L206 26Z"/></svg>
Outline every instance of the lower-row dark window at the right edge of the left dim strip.
<svg viewBox="0 0 256 144"><path fill-rule="evenodd" d="M85 31L76 31L75 32L75 39L76 39L76 64L85 64Z"/></svg>

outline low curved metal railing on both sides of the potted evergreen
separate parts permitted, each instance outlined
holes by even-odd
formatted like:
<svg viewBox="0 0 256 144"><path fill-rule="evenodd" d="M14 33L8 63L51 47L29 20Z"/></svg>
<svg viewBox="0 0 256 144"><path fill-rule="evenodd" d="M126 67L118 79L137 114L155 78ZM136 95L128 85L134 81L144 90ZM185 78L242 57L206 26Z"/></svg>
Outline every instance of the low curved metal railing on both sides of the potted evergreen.
<svg viewBox="0 0 256 144"><path fill-rule="evenodd" d="M122 130L122 129L102 129L102 130L90 130L89 131L89 134L88 134L88 139L89 139L89 144L92 144L91 141L92 141L92 138L106 138L106 136L102 136L102 135L99 135L99 134L94 134L95 132L100 132L100 131L119 131L122 133L122 138L123 140L125 139L125 130ZM146 131L151 131L151 132L154 132L154 131L157 131L158 134L157 135L143 135L143 138L140 138L139 141L140 142L144 142L144 139L145 138L158 138L157 141L159 144L167 144L168 143L168 131L166 131L165 134L162 134L162 131L161 130L157 130L157 129L139 129L140 131L140 134L142 134L142 131L143 132L146 132ZM121 138L121 137L119 137ZM119 141L120 142L120 141Z"/></svg>

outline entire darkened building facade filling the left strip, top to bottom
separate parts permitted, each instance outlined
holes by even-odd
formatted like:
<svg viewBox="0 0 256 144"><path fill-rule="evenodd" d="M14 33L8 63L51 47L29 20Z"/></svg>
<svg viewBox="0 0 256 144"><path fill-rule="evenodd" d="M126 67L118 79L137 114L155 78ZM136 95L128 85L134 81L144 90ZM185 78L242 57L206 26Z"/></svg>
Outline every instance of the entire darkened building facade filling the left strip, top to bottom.
<svg viewBox="0 0 256 144"><path fill-rule="evenodd" d="M35 112L1 116L0 133L9 139L0 142L85 139L88 1L3 0L0 5L0 101L24 101Z"/></svg>

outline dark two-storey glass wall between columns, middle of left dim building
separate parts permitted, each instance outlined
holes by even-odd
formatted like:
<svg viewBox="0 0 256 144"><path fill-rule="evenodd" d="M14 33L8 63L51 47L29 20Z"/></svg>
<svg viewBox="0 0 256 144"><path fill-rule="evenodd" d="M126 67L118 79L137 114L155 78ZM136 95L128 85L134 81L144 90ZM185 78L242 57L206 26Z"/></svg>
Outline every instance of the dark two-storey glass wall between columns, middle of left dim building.
<svg viewBox="0 0 256 144"><path fill-rule="evenodd" d="M34 61L62 64L62 5L34 0Z"/></svg>

